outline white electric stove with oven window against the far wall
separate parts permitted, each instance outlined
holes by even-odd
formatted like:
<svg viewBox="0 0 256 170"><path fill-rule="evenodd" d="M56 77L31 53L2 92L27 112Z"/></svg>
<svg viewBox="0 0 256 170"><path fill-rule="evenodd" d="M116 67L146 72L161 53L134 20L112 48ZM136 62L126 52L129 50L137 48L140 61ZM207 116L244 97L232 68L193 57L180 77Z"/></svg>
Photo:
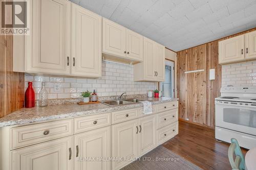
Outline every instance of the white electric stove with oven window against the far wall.
<svg viewBox="0 0 256 170"><path fill-rule="evenodd" d="M215 138L230 143L236 138L246 149L256 147L256 87L221 88L215 99Z"/></svg>

